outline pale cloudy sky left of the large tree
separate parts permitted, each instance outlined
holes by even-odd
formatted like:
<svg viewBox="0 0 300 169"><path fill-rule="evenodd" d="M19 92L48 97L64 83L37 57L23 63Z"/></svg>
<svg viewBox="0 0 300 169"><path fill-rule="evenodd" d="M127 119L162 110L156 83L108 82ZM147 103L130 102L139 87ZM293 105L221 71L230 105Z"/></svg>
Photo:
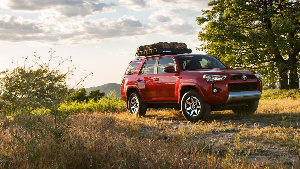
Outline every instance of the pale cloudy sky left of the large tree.
<svg viewBox="0 0 300 169"><path fill-rule="evenodd" d="M202 27L195 22L209 0L0 0L0 71L24 65L22 57L45 61L48 51L72 57L72 86L118 83L137 48L184 42L197 51ZM22 63L23 62L23 63ZM62 69L63 70L63 69Z"/></svg>

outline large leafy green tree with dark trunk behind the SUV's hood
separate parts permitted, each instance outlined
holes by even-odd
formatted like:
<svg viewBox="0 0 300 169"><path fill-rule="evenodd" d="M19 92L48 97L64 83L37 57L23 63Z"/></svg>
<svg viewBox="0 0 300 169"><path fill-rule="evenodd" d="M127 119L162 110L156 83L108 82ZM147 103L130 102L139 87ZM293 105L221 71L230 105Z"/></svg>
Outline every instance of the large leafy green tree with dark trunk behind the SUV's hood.
<svg viewBox="0 0 300 169"><path fill-rule="evenodd" d="M197 17L198 49L263 74L265 87L299 88L300 1L214 0Z"/></svg>

